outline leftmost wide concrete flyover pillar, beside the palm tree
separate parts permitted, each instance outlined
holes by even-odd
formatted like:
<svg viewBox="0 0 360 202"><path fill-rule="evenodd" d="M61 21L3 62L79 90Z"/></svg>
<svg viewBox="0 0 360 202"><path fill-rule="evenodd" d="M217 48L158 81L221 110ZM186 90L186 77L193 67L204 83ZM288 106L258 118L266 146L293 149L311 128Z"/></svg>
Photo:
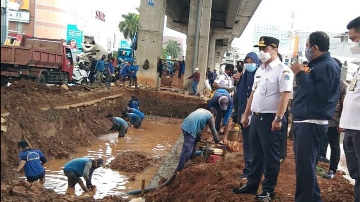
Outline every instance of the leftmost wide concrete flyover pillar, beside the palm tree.
<svg viewBox="0 0 360 202"><path fill-rule="evenodd" d="M156 0L149 6L147 0L141 0L138 29L138 49L136 61L139 65L138 83L150 87L159 87L157 57L161 56L166 0ZM151 22L151 23L149 23ZM145 60L149 61L149 69L145 70Z"/></svg>

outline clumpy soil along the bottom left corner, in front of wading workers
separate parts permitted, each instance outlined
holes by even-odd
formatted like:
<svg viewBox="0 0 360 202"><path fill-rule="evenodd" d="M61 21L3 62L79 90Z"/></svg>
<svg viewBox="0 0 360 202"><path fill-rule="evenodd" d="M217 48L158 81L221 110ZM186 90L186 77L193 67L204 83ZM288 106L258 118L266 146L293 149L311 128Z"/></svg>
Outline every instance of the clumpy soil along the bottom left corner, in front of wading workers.
<svg viewBox="0 0 360 202"><path fill-rule="evenodd" d="M107 196L95 200L91 193L84 193L81 196L65 196L57 194L53 190L44 188L39 182L27 182L15 180L1 183L1 201L6 202L127 202L119 196Z"/></svg>

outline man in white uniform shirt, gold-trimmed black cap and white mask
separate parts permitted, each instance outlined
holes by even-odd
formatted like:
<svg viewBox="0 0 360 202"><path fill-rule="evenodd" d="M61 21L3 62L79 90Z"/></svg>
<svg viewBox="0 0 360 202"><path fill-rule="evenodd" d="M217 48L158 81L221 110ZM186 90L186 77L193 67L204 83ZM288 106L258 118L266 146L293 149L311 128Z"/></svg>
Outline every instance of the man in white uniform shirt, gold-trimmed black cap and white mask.
<svg viewBox="0 0 360 202"><path fill-rule="evenodd" d="M249 142L252 161L248 182L241 188L233 189L236 194L256 194L261 176L262 192L255 199L274 199L274 189L280 169L280 141L283 138L282 120L289 99L292 97L293 73L278 57L279 40L260 37L261 66L256 70L252 92L242 118L243 127L249 127ZM266 172L264 173L264 170Z"/></svg>

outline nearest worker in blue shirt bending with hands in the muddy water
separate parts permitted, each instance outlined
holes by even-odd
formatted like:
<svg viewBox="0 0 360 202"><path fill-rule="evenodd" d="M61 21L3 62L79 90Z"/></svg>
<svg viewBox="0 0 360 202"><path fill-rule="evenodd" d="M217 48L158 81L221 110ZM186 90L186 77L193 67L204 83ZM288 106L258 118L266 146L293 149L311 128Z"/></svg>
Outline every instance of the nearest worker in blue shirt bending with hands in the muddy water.
<svg viewBox="0 0 360 202"><path fill-rule="evenodd" d="M91 178L93 177L94 170L100 166L104 167L104 161L101 158L78 158L67 162L64 165L64 174L68 178L67 193L74 193L77 183L79 183L84 192L89 192L94 189L95 185L91 184ZM86 186L80 177L85 179Z"/></svg>

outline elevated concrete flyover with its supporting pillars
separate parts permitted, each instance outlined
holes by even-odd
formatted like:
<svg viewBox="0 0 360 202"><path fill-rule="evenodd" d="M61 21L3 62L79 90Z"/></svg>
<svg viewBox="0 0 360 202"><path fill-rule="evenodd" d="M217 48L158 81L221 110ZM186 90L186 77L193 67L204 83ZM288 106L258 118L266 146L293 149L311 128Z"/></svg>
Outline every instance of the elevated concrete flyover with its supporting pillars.
<svg viewBox="0 0 360 202"><path fill-rule="evenodd" d="M141 66L148 59L150 69L140 68L138 79L153 81L147 82L151 86L159 85L154 77L158 77L156 58L161 55L163 15L166 14L166 26L187 36L184 77L189 77L198 67L201 73L198 89L202 92L206 68L214 69L215 64L220 63L260 3L261 0L154 0L152 6L148 0L141 0L137 60ZM190 89L190 84L190 80L184 79L185 89Z"/></svg>

